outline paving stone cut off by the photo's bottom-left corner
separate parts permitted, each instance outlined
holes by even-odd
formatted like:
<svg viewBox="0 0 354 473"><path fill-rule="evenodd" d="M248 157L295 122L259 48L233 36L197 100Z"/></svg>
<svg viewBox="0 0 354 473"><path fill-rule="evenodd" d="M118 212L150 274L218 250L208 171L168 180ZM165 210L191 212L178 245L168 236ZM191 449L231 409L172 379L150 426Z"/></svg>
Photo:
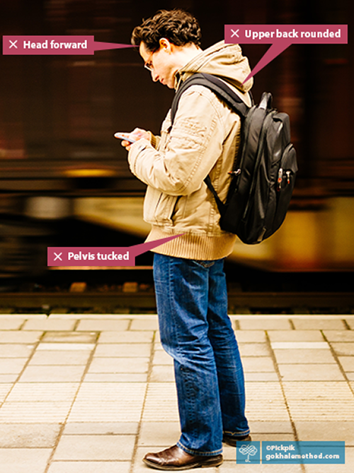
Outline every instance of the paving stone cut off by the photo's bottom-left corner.
<svg viewBox="0 0 354 473"><path fill-rule="evenodd" d="M52 453L50 448L0 448L4 473L44 473Z"/></svg>

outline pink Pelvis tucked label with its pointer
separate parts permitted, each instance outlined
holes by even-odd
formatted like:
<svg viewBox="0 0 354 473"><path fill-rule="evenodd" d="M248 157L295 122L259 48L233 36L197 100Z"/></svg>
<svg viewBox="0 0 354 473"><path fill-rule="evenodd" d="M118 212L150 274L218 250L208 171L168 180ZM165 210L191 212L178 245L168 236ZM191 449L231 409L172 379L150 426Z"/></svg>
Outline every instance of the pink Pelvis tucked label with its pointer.
<svg viewBox="0 0 354 473"><path fill-rule="evenodd" d="M179 236L130 247L48 247L47 266L135 266L135 257Z"/></svg>

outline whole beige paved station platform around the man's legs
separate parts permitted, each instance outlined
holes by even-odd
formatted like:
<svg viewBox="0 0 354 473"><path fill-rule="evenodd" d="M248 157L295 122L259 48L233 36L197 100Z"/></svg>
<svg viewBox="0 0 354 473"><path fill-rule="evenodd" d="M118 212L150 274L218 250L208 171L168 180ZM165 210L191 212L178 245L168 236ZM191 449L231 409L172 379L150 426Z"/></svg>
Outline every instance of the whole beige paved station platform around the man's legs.
<svg viewBox="0 0 354 473"><path fill-rule="evenodd" d="M232 315L253 440L345 440L346 465L236 465L212 473L354 471L354 315ZM0 315L0 465L6 473L147 473L179 436L171 358L155 315Z"/></svg>

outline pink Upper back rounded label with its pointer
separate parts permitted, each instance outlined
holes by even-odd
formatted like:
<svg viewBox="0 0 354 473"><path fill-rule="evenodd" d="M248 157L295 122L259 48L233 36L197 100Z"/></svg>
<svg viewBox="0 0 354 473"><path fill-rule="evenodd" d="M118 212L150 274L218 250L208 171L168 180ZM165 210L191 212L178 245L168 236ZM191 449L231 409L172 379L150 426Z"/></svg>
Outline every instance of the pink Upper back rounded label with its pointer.
<svg viewBox="0 0 354 473"><path fill-rule="evenodd" d="M348 25L225 25L224 35L228 44L271 44L246 82L292 44L347 44Z"/></svg>

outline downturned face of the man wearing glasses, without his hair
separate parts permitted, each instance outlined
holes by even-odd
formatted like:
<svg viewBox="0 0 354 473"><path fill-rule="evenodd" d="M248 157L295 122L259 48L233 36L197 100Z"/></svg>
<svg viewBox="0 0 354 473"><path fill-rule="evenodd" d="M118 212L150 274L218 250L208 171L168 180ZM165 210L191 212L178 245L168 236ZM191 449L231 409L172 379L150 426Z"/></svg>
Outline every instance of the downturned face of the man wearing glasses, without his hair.
<svg viewBox="0 0 354 473"><path fill-rule="evenodd" d="M181 67L177 61L175 51L176 47L162 38L160 40L160 47L157 51L151 52L144 45L140 43L139 53L144 60L144 65L152 74L154 82L160 81L164 86L174 88L176 71Z"/></svg>

